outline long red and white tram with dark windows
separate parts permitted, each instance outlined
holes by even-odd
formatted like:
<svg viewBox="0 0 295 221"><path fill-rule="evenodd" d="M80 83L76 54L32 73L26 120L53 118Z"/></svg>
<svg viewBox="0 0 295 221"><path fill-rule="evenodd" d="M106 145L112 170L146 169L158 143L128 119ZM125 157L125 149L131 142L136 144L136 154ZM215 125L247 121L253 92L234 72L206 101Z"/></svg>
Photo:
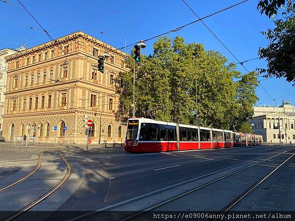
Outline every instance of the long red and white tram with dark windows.
<svg viewBox="0 0 295 221"><path fill-rule="evenodd" d="M261 135L131 118L127 122L125 150L166 152L262 144Z"/></svg>

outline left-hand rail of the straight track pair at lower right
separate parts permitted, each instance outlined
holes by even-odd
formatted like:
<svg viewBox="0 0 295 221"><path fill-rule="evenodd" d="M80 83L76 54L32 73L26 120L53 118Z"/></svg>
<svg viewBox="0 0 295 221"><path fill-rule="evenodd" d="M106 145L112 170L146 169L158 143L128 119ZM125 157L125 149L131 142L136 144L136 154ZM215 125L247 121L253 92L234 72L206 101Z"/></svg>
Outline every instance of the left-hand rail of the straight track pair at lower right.
<svg viewBox="0 0 295 221"><path fill-rule="evenodd" d="M236 174L236 173L238 173L238 172L240 172L240 171L243 171L243 170L245 170L245 169L247 169L247 168L250 168L250 167L252 167L252 166L255 166L255 165L261 164L262 162L265 162L265 161L267 161L267 160L269 160L269 159L271 159L271 158L277 157L277 156L279 156L279 155L281 155L281 154L283 154L283 153L285 153L285 152L287 152L287 151L293 150L293 149L295 149L295 148L292 148L292 149L286 150L286 151L284 151L284 152L282 152L282 153L279 153L279 154L277 154L277 155L274 155L274 156L272 156L272 157L269 157L269 158L267 158L267 159L265 159L265 160L263 160L263 161L257 162L257 163L255 163L255 164L253 164L253 165L246 166L246 167L244 167L244 168L241 168L241 169L239 169L239 170L237 170L237 171L235 171L235 172L232 172L232 173L229 173L229 174L227 174L227 175L224 175L224 176L222 176L222 177L220 177L220 178L217 178L216 180L212 180L212 181L210 181L210 182L208 182L208 183L206 183L206 184L203 184L203 185L201 185L201 186L199 186L199 187L196 187L196 188L194 188L194 189L192 189L192 190L189 190L189 191L187 191L187 192L184 192L184 193L178 194L177 196L174 196L174 197L172 197L172 198L170 198L170 199L167 199L167 200L165 200L165 201L163 201L163 202L160 202L160 203L158 203L158 204L156 204L156 205L153 205L153 206L151 206L151 207L148 207L148 208L146 208L145 210L140 211L140 212L138 212L138 213L135 213L135 214L133 214L133 215L131 215L131 216L128 216L128 217L126 217L126 218L124 218L124 219L122 219L122 220L120 220L120 221L129 221L129 220L133 220L133 219L135 219L135 218L141 217L142 215L144 215L144 214L146 214L146 213L148 213L148 212L150 212L150 211L152 211L152 210L154 210L154 209L157 209L157 208L159 208L159 207L161 207L161 206L164 206L164 205L166 205L166 204L169 204L169 203L171 203L171 202L173 202L173 201L175 201L175 200L177 200L177 199L179 199L179 198L181 198L181 197L183 197L183 196L186 196L186 195L188 195L188 194L190 194L190 193L194 193L194 192L196 192L196 191L198 191L198 190L200 190L200 189L203 189L203 188L205 188L205 187L207 187L207 186L209 186L209 185L211 185L211 184L213 184L213 183L216 183L216 182L218 182L218 181L220 181L220 180L223 180L223 179L225 179L225 178L227 178L227 177L229 177L229 176L232 176L232 175L234 175L234 174ZM293 155L292 155L292 156L293 156ZM292 157L292 156L291 156L291 157ZM289 158L288 158L288 159L289 159Z"/></svg>

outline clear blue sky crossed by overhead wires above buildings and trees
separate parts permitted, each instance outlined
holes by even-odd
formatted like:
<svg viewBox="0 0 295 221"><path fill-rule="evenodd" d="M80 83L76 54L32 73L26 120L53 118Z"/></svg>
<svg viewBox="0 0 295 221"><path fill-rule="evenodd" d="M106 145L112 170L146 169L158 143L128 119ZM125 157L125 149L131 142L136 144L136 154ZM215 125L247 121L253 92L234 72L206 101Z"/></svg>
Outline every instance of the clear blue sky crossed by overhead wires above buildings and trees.
<svg viewBox="0 0 295 221"><path fill-rule="evenodd" d="M17 0L6 1L9 3L0 1L0 49L16 48L27 38L29 38L28 47L50 40ZM117 48L124 47L125 38L128 45L197 20L182 0L21 0L21 2L53 38L82 30ZM186 2L199 17L204 17L239 1L186 0ZM256 10L257 2L258 0L249 0L204 20L240 61L258 57L259 47L267 45L260 31L273 28L271 20ZM229 62L237 62L201 22L170 33L168 36L173 38L176 35L184 37L186 42L202 43L206 50L221 52ZM146 42L145 54L152 53L153 42L154 40ZM266 62L256 59L244 63L244 66L252 71L266 67ZM237 65L237 70L246 72L241 65ZM295 105L295 87L285 79L267 79L261 84L278 104L285 99ZM274 103L261 87L257 88L257 95L260 99L257 104L272 106Z"/></svg>

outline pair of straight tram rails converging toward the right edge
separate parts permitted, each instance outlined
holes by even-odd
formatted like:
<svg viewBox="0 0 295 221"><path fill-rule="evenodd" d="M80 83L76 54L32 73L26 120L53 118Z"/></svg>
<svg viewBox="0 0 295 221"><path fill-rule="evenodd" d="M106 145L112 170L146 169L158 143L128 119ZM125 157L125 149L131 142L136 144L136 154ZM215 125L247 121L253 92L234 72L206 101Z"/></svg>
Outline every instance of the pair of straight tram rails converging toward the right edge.
<svg viewBox="0 0 295 221"><path fill-rule="evenodd" d="M150 207L148 207L148 208L146 208L146 209L144 209L143 211L140 211L140 212L137 212L137 213L134 213L134 214L132 214L132 215L130 215L130 216L127 216L127 217L125 217L125 218L123 218L123 219L121 219L120 221L130 221L130 220L134 220L134 219L136 219L136 218L139 218L139 217L142 217L143 215L145 215L145 214L147 214L148 212L151 212L151 211L153 211L153 210L155 210L155 209L158 209L158 208L160 208L160 207L162 207L162 206L164 206L164 205L167 205L167 204L169 204L169 203L172 203L172 202L174 202L174 201L176 201L177 199L180 199L180 198L182 198L182 197L184 197L184 196L186 196L186 195L189 195L189 194L191 194L191 193L194 193L194 192L196 192L196 191L198 191L198 190L201 190L201 189L203 189L203 188L205 188L205 187L208 187L209 185L212 185L212 184L214 184L214 183L216 183L216 182L218 182L218 181L220 181L220 180L223 180L223 179L225 179L225 178L227 178L227 177L230 177L230 176L232 176L232 175L234 175L234 174L237 174L237 173L239 173L239 172L241 172L241 171L243 171L243 170L245 170L245 169L247 169L247 168L250 168L250 167L252 167L252 166L256 166L256 165L258 165L258 164L261 164L261 163L263 163L263 162L265 162L265 161L268 161L268 160L270 160L270 159L272 159L272 158L274 158L274 157L277 157L277 156L280 156L280 155L282 155L282 154L284 154L284 153L286 153L286 152L288 152L288 151L290 151L290 150L293 150L293 149L295 149L295 148L292 148L292 149L289 149L289 150L286 150L286 151L284 151L284 152L281 152L281 153L279 153L279 154L277 154L277 155L274 155L274 156L272 156L272 157L269 157L269 158L267 158L267 159L265 159L265 160L262 160L262 161L260 161L260 162L257 162L257 163L255 163L255 164L252 164L252 165L250 165L250 166L246 166L246 167L244 167L244 168L241 168L241 169L238 169L238 170L236 170L236 171L234 171L234 172L232 172L232 173L229 173L229 174L227 174L227 175L224 175L224 176L222 176L222 177L220 177L220 178L217 178L217 179L215 179L215 180L212 180L212 181L210 181L210 182L208 182L208 183L206 183L206 184L203 184L203 185L201 185L201 186L198 186L198 187L196 187L196 188L194 188L194 189L191 189L191 190L189 190L189 191L186 191L186 192L184 192L184 193L180 193L180 194L178 194L178 195L176 195L176 196L174 196L174 197L171 197L171 198L169 198L169 199L167 199L167 200L164 200L164 201L162 201L162 202L160 202L160 203L158 203L158 204L155 204L155 205L153 205L153 206L150 206ZM281 166L283 166L288 160L290 160L293 156L295 155L295 153L293 153L292 154L292 156L290 156L287 160L285 160L283 163L281 163L279 166L276 166L275 167L275 169L273 169L273 170L271 170L270 172L268 172L265 176L263 176L263 178L261 178L259 181L257 181L255 184L253 184L249 189L247 189L245 192L243 192L242 194L240 194L239 196L237 196L230 204L228 204L225 208L223 208L220 212L219 212L219 214L225 214L226 212L228 212L230 209L232 209L240 200L242 200L246 195L248 195L249 193L251 193L255 188L257 188L262 182L264 182L271 174L273 174L279 167L281 167ZM216 220L218 220L218 219L216 219ZM214 221L216 221L216 220L214 220Z"/></svg>

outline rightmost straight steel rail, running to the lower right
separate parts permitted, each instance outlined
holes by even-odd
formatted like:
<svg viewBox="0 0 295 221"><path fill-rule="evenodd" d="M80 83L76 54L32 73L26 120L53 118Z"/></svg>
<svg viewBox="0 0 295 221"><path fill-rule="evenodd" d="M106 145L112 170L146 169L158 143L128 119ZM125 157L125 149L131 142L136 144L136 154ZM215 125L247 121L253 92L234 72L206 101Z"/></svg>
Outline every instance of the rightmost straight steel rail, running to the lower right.
<svg viewBox="0 0 295 221"><path fill-rule="evenodd" d="M290 156L287 160L285 160L282 164L280 164L279 166L277 166L274 170L270 171L269 173L267 173L262 179L260 179L259 181L257 181L255 184L253 184L253 186L251 186L250 188L248 188L244 193L240 194L238 197L236 197L236 199L234 199L230 204L228 204L226 207L224 207L218 214L225 214L226 212L230 211L234 206L236 206L236 204L238 202L240 202L245 196L247 196L249 193L251 193L254 189L256 189L262 182L264 182L271 174L273 174L278 168L280 168L281 166L283 166L288 160L290 160L293 156L295 155L292 154L292 156ZM217 221L219 219L213 219L211 221Z"/></svg>

